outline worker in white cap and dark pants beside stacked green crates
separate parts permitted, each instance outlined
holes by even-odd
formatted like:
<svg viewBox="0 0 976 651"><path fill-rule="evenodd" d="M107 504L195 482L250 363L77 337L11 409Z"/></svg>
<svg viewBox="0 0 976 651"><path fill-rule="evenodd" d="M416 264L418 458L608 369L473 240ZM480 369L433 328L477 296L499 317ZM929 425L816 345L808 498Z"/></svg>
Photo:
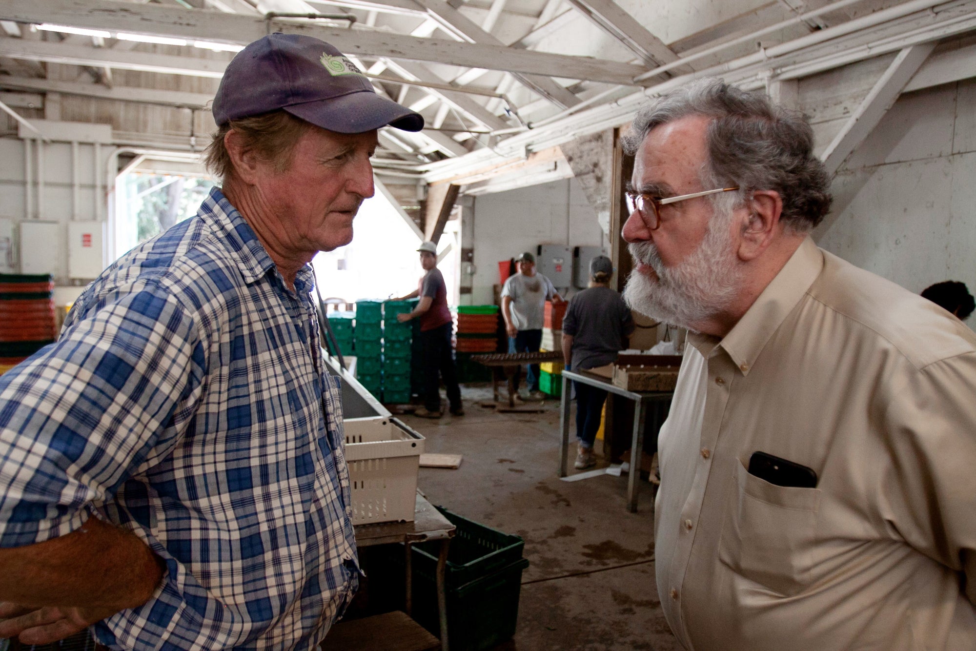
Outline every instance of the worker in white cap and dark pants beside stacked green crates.
<svg viewBox="0 0 976 651"><path fill-rule="evenodd" d="M461 404L461 387L458 387L458 372L454 367L451 347L451 310L447 307L447 284L437 268L437 245L424 242L417 251L421 254L421 266L426 273L416 290L403 297L415 299L420 303L410 312L397 314L400 322L419 318L421 320L421 351L424 364L424 406L414 415L421 418L440 418L440 380L447 387L447 400L451 414L464 416Z"/></svg>

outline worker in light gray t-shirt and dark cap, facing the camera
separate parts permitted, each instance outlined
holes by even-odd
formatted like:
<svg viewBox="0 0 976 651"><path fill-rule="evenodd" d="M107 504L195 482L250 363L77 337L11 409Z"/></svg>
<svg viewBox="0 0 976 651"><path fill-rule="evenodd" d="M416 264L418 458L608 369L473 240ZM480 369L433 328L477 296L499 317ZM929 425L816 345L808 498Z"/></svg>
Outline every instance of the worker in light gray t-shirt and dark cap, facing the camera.
<svg viewBox="0 0 976 651"><path fill-rule="evenodd" d="M518 273L508 276L502 287L502 317L508 332L508 352L539 352L543 342L543 323L547 301L562 302L552 282L536 271L536 258L523 253L516 261ZM519 374L514 386L518 390ZM525 383L529 397L542 399L539 392L539 364L529 364Z"/></svg>

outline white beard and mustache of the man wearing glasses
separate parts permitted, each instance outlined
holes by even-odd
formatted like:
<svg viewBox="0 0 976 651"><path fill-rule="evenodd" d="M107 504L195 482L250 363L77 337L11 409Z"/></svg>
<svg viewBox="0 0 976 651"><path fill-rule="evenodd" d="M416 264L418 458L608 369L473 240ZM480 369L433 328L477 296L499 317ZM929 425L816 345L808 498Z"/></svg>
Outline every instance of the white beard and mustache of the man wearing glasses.
<svg viewBox="0 0 976 651"><path fill-rule="evenodd" d="M731 304L741 285L742 270L732 250L729 219L716 214L702 243L685 260L668 267L651 242L630 244L634 263L648 264L655 280L636 269L624 288L624 301L642 314L694 331L699 324Z"/></svg>

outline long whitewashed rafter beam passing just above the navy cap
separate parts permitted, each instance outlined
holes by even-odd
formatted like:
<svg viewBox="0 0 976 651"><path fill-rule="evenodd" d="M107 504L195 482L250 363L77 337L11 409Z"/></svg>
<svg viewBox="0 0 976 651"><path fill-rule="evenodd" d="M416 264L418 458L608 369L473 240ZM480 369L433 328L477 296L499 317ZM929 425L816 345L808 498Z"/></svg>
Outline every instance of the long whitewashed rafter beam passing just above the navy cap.
<svg viewBox="0 0 976 651"><path fill-rule="evenodd" d="M482 43L417 38L365 29L333 28L294 21L263 20L203 10L180 10L162 5L140 5L119 0L4 0L0 20L56 22L78 27L132 31L142 34L199 38L246 44L269 29L315 36L350 55L389 57L414 61L450 61L453 65L484 67L550 77L633 84L643 71L639 65L515 50Z"/></svg>

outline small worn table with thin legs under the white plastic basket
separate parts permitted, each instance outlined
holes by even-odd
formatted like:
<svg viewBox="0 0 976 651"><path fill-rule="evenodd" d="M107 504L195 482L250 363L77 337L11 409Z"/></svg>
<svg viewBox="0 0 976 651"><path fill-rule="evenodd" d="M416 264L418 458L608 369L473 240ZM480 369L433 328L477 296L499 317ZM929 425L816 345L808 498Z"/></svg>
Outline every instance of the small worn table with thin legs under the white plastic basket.
<svg viewBox="0 0 976 651"><path fill-rule="evenodd" d="M388 545L403 543L406 550L406 603L407 615L413 615L413 571L411 548L416 543L426 541L440 541L440 552L437 555L437 613L440 619L440 648L448 651L447 643L447 590L445 577L447 571L447 552L451 539L457 527L441 512L434 509L427 502L427 498L417 491L417 503L414 508L413 522L381 522L379 524L355 525L357 547L372 547L374 545Z"/></svg>

